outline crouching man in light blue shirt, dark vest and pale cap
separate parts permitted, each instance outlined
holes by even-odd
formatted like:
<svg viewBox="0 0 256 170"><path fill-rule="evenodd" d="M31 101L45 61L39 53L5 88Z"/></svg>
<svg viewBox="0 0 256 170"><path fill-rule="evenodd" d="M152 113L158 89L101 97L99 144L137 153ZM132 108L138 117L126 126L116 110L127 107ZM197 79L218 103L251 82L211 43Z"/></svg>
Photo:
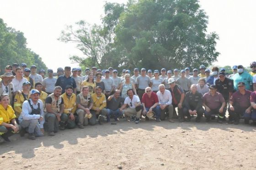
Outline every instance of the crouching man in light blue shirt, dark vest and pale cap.
<svg viewBox="0 0 256 170"><path fill-rule="evenodd" d="M32 89L29 95L30 99L26 100L22 105L19 122L23 128L21 136L24 136L24 131L26 130L29 133L28 139L35 140L36 136L43 136L44 134L43 102L39 99L40 93L37 89Z"/></svg>

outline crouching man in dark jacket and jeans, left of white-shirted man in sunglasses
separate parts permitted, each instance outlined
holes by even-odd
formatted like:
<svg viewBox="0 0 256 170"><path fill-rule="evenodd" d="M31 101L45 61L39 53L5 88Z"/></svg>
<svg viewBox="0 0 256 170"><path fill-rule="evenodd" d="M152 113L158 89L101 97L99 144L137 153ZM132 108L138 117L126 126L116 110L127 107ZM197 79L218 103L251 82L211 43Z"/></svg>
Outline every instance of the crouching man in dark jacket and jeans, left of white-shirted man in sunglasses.
<svg viewBox="0 0 256 170"><path fill-rule="evenodd" d="M115 90L114 94L109 96L107 99L107 121L110 121L111 116L114 117L115 121L123 116L123 112L120 111L121 104L124 102L124 98L120 96L120 90Z"/></svg>

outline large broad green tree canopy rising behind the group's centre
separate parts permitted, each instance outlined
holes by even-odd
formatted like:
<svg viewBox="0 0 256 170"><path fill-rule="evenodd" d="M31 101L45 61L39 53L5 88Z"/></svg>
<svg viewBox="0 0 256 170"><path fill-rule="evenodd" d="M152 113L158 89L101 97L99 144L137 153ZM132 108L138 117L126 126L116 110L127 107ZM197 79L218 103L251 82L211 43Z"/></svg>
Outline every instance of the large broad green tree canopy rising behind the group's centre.
<svg viewBox="0 0 256 170"><path fill-rule="evenodd" d="M75 42L81 66L119 69L206 67L217 60L219 36L207 34L208 16L198 0L129 0L104 5L100 26L80 21L59 38Z"/></svg>

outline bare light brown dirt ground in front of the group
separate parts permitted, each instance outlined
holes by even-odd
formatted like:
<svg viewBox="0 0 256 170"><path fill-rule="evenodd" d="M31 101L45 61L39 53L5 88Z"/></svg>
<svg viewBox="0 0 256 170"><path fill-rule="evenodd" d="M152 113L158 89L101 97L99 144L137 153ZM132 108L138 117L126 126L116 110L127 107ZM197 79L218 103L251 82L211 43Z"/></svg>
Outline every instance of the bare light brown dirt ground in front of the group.
<svg viewBox="0 0 256 170"><path fill-rule="evenodd" d="M111 122L113 123L113 122ZM191 122L117 124L66 129L36 140L0 144L0 167L18 169L255 170L256 126ZM119 167L119 168L121 168Z"/></svg>

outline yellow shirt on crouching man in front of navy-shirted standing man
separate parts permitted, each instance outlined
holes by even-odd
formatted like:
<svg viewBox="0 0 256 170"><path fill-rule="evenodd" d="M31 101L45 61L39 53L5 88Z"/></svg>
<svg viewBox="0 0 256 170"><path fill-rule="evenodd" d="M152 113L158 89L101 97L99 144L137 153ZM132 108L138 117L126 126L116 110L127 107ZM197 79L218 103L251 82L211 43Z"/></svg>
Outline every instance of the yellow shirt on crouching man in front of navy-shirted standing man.
<svg viewBox="0 0 256 170"><path fill-rule="evenodd" d="M64 112L66 114L71 113L75 113L76 110L76 96L74 93L72 93L72 95L70 96L70 98L68 98L68 96L66 95L66 93L63 93L61 95L61 97L63 98L64 101Z"/></svg>

